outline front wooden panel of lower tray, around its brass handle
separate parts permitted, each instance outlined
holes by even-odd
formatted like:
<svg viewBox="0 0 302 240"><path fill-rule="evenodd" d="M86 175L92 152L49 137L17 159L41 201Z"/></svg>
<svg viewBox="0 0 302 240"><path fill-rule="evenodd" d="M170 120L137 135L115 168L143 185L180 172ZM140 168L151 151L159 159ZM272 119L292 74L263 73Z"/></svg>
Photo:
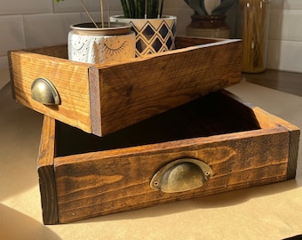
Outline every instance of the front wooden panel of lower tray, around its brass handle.
<svg viewBox="0 0 302 240"><path fill-rule="evenodd" d="M59 222L82 220L287 179L290 133L230 133L55 158ZM203 187L167 194L149 182L163 164L191 157L211 166Z"/></svg>

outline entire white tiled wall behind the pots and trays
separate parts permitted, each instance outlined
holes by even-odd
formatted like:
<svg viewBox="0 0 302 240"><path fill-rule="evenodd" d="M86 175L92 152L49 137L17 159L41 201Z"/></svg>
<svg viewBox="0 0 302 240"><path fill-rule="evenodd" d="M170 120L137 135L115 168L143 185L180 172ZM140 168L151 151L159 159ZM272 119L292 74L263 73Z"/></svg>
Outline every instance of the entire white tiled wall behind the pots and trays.
<svg viewBox="0 0 302 240"><path fill-rule="evenodd" d="M99 1L85 0L85 3L99 18ZM110 3L111 14L122 13L120 0L110 0ZM163 13L178 16L178 33L185 35L192 10L183 0L165 0L164 3ZM233 35L238 9L234 6L227 13ZM69 25L83 20L88 18L80 1L76 0L65 0L60 4L55 0L5 1L0 8L0 69L8 66L7 51L64 44ZM301 0L271 0L268 68L302 72L301 20Z"/></svg>

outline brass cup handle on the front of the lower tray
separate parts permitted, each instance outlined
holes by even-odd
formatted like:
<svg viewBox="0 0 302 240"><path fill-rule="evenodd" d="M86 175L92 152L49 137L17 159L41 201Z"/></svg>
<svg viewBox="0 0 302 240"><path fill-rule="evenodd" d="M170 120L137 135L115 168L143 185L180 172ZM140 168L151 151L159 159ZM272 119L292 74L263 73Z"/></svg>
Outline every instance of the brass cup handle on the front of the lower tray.
<svg viewBox="0 0 302 240"><path fill-rule="evenodd" d="M155 173L150 187L164 193L176 193L202 187L213 172L208 164L193 158L182 158L164 165Z"/></svg>

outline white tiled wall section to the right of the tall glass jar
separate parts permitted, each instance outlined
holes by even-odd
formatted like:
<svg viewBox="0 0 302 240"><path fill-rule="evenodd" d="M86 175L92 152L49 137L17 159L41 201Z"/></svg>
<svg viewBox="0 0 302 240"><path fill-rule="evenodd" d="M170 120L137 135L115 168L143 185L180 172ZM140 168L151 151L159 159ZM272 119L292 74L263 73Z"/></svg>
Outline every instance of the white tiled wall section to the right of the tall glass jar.
<svg viewBox="0 0 302 240"><path fill-rule="evenodd" d="M302 1L271 0L270 16L267 68L302 72Z"/></svg>

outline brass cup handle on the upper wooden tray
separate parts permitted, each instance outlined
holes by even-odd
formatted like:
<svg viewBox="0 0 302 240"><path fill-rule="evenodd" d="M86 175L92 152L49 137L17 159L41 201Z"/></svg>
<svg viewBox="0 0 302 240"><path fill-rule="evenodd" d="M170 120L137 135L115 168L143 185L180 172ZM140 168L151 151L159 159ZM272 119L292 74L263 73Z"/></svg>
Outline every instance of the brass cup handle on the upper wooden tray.
<svg viewBox="0 0 302 240"><path fill-rule="evenodd" d="M60 96L51 81L46 78L37 78L31 84L31 98L44 105L59 105Z"/></svg>

